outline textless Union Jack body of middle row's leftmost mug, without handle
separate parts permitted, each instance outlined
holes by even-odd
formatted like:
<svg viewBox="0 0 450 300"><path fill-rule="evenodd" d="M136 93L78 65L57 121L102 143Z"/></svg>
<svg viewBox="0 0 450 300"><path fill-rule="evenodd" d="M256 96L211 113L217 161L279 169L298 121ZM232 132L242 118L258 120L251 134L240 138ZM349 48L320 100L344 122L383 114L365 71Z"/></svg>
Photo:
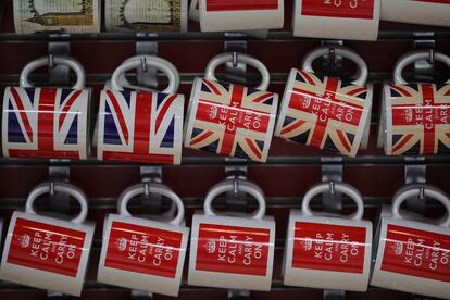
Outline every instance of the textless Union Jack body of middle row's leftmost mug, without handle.
<svg viewBox="0 0 450 300"><path fill-rule="evenodd" d="M3 155L87 158L89 90L8 87L3 99Z"/></svg>

